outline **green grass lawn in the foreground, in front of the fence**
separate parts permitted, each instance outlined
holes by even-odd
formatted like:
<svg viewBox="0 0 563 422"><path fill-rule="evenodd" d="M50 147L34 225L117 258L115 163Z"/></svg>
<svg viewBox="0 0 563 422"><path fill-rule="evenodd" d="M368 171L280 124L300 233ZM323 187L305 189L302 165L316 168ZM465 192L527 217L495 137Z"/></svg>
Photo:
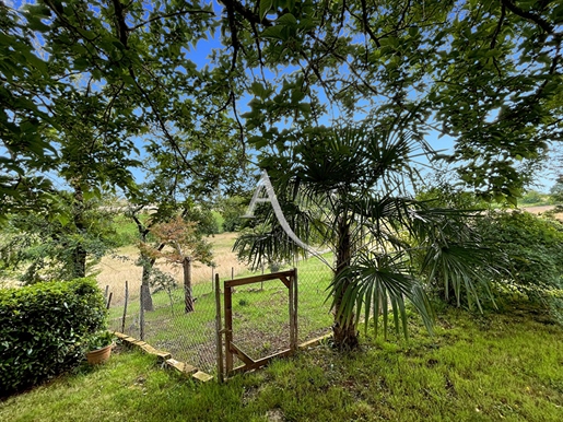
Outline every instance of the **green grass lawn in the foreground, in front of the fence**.
<svg viewBox="0 0 563 422"><path fill-rule="evenodd" d="M363 336L341 354L321 344L225 385L193 384L148 355L0 402L2 421L562 421L563 328L528 305L485 316L449 309L431 338Z"/></svg>

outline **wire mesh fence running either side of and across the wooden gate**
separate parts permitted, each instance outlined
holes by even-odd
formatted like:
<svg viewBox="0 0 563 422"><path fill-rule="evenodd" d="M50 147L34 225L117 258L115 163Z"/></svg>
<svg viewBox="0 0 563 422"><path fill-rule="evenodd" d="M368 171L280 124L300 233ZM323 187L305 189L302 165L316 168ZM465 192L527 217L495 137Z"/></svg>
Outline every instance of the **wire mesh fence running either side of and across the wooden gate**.
<svg viewBox="0 0 563 422"><path fill-rule="evenodd" d="M326 289L331 280L331 270L316 258L309 258L292 266L270 268L266 272L293 267L297 268L298 273L297 342L301 343L330 330L332 318L329 313L330 301L326 301ZM263 272L247 270L235 278ZM232 279L233 273L219 276L223 285L223 281ZM125 294L124 281L122 292L118 294L120 300L109 309L109 326L115 331L142 338L156 349L171 352L178 361L214 373L216 345L213 279L213 270L209 268L209 281L193 283L195 310L190 313L186 313L185 290L180 284L153 291L153 310L141 312L139 290L128 289ZM288 348L289 297L283 283L268 280L237 286L232 301L233 331L237 345L248 355L260 357Z"/></svg>

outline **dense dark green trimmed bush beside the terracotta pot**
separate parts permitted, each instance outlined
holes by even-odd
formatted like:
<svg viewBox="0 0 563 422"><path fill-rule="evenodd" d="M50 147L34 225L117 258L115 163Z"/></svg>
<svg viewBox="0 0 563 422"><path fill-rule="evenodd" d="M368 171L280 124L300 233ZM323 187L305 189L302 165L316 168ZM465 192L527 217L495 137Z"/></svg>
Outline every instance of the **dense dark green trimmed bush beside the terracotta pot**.
<svg viewBox="0 0 563 422"><path fill-rule="evenodd" d="M92 279L0 290L0 395L77 365L84 338L105 327L104 297Z"/></svg>

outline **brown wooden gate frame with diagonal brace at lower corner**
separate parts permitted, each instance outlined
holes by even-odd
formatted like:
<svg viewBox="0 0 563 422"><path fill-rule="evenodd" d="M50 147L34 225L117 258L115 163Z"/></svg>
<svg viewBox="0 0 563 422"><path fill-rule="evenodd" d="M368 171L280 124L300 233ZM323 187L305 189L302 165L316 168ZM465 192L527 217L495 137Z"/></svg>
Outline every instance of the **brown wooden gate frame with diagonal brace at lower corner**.
<svg viewBox="0 0 563 422"><path fill-rule="evenodd" d="M241 350L233 342L233 291L234 288L262 283L265 281L279 280L289 291L288 300L288 317L290 326L289 348L281 352L261 357L257 361L253 360L247 353ZM221 317L221 285L219 282L219 274L215 274L215 305L216 305L216 352L218 352L218 373L219 378L222 380L224 376L232 376L234 374L256 370L266 365L274 357L289 356L297 350L297 269L274 272L271 274L254 276L237 280L225 280L223 282L224 291L224 313L225 325L222 328ZM223 343L224 336L224 343ZM224 362L223 362L223 344L224 344ZM237 356L244 364L238 367L233 367L233 357ZM224 363L224 366L223 366Z"/></svg>

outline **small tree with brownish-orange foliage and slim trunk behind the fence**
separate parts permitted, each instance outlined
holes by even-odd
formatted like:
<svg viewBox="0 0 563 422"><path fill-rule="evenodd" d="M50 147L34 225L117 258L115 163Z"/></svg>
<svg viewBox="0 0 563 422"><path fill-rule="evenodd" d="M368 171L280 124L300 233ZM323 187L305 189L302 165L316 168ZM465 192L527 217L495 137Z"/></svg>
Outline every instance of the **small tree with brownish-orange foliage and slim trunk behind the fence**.
<svg viewBox="0 0 563 422"><path fill-rule="evenodd" d="M184 270L184 292L186 313L193 312L193 295L191 292L191 262L200 261L211 265L211 244L203 239L196 228L198 223L185 221L177 215L167 223L155 224L151 234L161 245L168 247L153 247L141 242L141 254L151 259L164 258L172 265L180 265Z"/></svg>

